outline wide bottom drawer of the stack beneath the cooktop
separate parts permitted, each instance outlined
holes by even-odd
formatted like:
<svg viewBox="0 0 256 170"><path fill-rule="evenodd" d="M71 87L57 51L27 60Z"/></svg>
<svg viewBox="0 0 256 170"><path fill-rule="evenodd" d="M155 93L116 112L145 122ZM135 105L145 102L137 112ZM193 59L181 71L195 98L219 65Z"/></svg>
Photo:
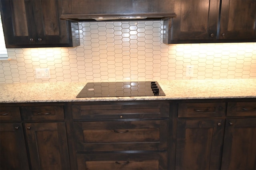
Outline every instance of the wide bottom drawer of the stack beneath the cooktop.
<svg viewBox="0 0 256 170"><path fill-rule="evenodd" d="M78 170L167 170L167 153L77 154Z"/></svg>

